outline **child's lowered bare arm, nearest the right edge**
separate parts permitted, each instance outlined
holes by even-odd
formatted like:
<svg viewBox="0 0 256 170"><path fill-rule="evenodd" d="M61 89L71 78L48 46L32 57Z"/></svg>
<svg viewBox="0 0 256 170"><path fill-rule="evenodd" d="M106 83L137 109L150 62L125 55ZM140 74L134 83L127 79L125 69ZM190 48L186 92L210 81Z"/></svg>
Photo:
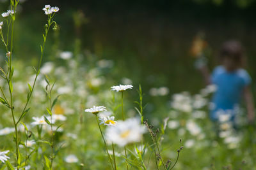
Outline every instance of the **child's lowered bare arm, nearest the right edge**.
<svg viewBox="0 0 256 170"><path fill-rule="evenodd" d="M254 113L254 106L253 106L252 90L250 89L250 86L244 87L244 100L246 103L248 120L249 122L253 122L255 113Z"/></svg>

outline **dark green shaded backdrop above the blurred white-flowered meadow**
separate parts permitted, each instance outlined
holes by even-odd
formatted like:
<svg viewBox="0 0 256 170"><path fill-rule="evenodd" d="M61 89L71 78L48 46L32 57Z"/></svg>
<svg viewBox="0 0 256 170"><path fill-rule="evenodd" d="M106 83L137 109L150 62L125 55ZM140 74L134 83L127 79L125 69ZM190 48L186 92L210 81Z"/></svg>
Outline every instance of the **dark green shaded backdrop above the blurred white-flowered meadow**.
<svg viewBox="0 0 256 170"><path fill-rule="evenodd" d="M1 2L4 11L9 2ZM246 69L256 78L253 0L20 2L15 52L22 59L36 63L42 23L47 18L42 7L51 4L60 7L55 19L59 30L49 35L45 61L54 60L52 45L74 52L79 39L84 57L91 52L98 59L113 60L116 69L122 69L122 74L113 74L117 83L127 77L145 90L164 86L170 94L182 90L195 93L204 82L193 67L195 59L189 48L196 34L203 32L211 70L218 64L216 56L223 41L238 39L248 56Z"/></svg>

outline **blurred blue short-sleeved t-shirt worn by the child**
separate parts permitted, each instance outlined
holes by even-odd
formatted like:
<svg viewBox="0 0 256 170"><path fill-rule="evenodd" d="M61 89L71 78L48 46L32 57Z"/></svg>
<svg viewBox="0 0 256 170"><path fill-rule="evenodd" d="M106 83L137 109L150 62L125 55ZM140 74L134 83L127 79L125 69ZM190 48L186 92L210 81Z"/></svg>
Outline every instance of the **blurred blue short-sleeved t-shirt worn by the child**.
<svg viewBox="0 0 256 170"><path fill-rule="evenodd" d="M251 83L250 75L244 69L227 71L223 66L217 66L212 73L212 83L217 90L212 97L214 108L211 119L218 120L218 111L230 111L240 103L244 87Z"/></svg>

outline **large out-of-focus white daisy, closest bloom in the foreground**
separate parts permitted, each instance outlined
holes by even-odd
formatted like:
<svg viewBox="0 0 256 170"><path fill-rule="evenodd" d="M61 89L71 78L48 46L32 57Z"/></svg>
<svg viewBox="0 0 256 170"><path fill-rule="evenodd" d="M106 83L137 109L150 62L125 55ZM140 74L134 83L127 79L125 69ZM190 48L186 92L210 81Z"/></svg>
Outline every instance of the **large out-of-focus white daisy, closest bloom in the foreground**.
<svg viewBox="0 0 256 170"><path fill-rule="evenodd" d="M145 132L145 127L140 124L137 118L129 118L120 121L116 126L109 126L106 129L106 139L108 143L115 143L118 146L125 146L127 143L139 142L142 139L142 134Z"/></svg>

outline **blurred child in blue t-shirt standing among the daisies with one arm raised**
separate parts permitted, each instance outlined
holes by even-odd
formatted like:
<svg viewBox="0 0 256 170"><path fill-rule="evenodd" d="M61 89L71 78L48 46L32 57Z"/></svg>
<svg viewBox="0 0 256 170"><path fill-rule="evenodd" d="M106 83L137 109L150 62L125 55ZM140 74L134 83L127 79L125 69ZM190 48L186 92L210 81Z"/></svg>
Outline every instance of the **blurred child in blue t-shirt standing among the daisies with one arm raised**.
<svg viewBox="0 0 256 170"><path fill-rule="evenodd" d="M253 97L250 90L251 78L243 69L244 53L238 41L226 41L220 50L221 65L214 68L211 76L202 59L198 59L198 69L204 76L205 83L216 85L217 90L212 97L213 107L210 118L218 121L218 114L224 112L230 114L230 120L234 122L236 117L236 107L239 106L241 97L244 96L246 103L248 120L253 122L254 106Z"/></svg>

